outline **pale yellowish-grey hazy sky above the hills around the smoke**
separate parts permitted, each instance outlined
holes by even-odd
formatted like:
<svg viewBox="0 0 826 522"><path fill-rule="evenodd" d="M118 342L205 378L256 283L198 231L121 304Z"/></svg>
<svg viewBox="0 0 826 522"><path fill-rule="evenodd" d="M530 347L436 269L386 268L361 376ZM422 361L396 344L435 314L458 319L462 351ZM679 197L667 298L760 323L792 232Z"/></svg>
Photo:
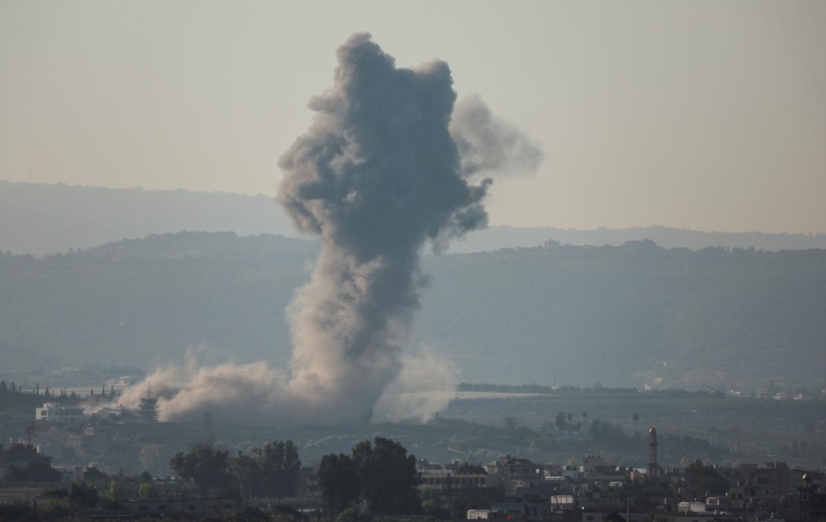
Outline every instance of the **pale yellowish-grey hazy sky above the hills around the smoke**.
<svg viewBox="0 0 826 522"><path fill-rule="evenodd" d="M0 0L0 178L274 193L370 31L539 141L491 221L826 231L826 2Z"/></svg>

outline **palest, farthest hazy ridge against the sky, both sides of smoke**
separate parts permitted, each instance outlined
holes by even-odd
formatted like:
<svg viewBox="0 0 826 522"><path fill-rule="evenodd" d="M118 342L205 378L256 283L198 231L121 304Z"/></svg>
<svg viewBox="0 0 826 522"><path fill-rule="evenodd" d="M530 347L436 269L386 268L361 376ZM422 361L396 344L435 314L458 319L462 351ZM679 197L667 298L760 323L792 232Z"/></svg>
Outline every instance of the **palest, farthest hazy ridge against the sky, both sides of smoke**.
<svg viewBox="0 0 826 522"><path fill-rule="evenodd" d="M226 192L152 191L0 180L0 251L53 254L122 239L182 230L238 235L297 236L272 197ZM781 250L826 248L826 234L705 232L662 226L572 230L491 226L454 242L454 253L563 244L613 244L653 240L665 248L707 246Z"/></svg>

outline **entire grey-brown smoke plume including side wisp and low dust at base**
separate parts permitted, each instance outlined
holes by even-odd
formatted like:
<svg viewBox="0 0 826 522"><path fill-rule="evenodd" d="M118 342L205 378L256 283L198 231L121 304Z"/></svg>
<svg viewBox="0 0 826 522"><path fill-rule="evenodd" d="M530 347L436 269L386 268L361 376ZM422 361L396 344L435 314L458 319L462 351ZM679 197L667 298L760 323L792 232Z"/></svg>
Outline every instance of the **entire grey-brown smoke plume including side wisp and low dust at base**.
<svg viewBox="0 0 826 522"><path fill-rule="evenodd" d="M477 98L454 113L442 61L397 68L367 34L350 37L337 57L332 88L311 99L310 129L279 162L278 202L321 240L311 282L288 309L290 371L266 363L159 370L149 378L164 418L252 409L262 422L323 422L368 419L378 404L382 419L425 420L444 406L401 400L426 384L425 373L441 377L439 386L456 380L449 365L434 372L432 354L401 357L420 302L420 254L487 225L491 180L476 174L521 165L526 150L533 164L535 149ZM392 412L400 407L411 411Z"/></svg>

